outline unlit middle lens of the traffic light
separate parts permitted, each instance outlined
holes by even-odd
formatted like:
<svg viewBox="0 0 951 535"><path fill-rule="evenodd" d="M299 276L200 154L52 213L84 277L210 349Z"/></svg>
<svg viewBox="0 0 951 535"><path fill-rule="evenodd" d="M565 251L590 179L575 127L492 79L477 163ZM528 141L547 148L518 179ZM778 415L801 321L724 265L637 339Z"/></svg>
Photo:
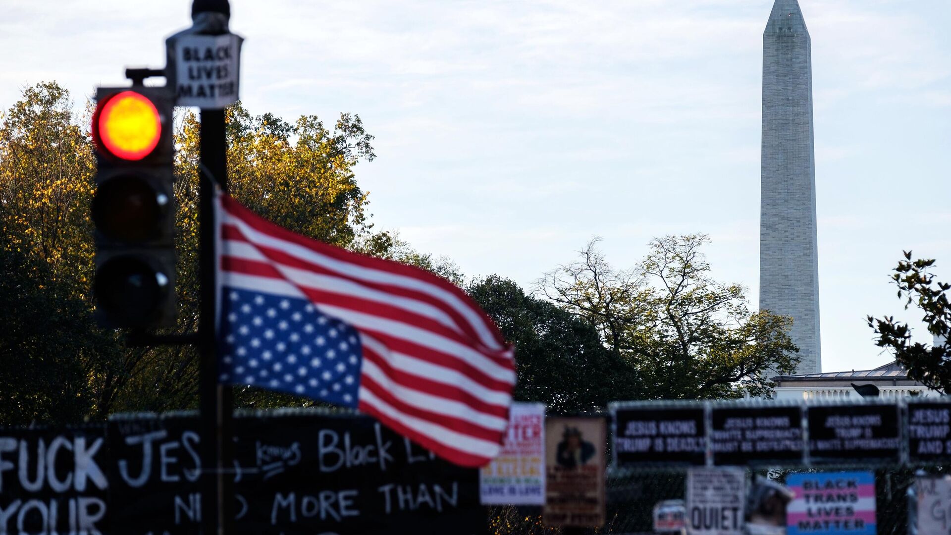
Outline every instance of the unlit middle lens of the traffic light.
<svg viewBox="0 0 951 535"><path fill-rule="evenodd" d="M168 197L148 181L118 176L96 188L92 220L112 240L142 242L162 235Z"/></svg>

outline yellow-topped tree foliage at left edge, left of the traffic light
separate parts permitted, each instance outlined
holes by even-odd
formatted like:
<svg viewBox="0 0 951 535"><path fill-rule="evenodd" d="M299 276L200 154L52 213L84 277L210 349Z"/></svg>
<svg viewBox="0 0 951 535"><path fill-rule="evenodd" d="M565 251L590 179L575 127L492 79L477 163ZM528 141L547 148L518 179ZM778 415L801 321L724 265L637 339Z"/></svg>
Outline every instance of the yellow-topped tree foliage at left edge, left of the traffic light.
<svg viewBox="0 0 951 535"><path fill-rule="evenodd" d="M72 422L104 405L121 360L92 322L94 157L68 91L24 90L0 123L0 422Z"/></svg>

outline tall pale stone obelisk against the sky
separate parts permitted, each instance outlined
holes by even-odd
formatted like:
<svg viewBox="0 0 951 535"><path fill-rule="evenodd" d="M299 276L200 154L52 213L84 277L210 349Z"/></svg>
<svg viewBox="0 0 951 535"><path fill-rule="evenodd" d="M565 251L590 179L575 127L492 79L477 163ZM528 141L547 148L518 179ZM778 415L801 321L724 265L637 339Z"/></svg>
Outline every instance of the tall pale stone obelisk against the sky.
<svg viewBox="0 0 951 535"><path fill-rule="evenodd" d="M812 59L797 0L775 0L763 33L760 308L791 316L802 359L822 371Z"/></svg>

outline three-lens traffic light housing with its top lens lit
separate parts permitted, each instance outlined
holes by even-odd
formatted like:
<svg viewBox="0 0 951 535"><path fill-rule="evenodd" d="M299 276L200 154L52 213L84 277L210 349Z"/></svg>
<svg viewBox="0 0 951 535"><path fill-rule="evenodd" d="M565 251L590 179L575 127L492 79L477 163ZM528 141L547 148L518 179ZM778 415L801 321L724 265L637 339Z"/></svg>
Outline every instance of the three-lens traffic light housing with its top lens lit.
<svg viewBox="0 0 951 535"><path fill-rule="evenodd" d="M96 315L107 327L175 320L175 197L170 89L99 88L96 144Z"/></svg>

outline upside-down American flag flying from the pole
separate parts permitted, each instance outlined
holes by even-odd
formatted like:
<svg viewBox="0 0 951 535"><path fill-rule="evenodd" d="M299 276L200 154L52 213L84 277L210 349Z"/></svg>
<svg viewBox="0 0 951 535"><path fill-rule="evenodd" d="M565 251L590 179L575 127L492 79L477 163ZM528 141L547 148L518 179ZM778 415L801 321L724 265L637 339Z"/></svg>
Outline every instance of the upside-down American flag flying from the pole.
<svg viewBox="0 0 951 535"><path fill-rule="evenodd" d="M462 290L278 227L226 194L216 220L222 383L357 407L458 465L495 458L513 349Z"/></svg>

